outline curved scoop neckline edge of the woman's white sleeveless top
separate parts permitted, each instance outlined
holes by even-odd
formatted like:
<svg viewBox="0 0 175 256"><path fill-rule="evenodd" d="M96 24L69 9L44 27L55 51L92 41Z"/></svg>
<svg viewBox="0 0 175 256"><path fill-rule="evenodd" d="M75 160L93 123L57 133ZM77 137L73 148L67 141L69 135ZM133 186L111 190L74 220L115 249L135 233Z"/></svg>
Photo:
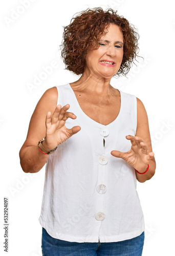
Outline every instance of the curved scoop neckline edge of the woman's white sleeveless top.
<svg viewBox="0 0 175 256"><path fill-rule="evenodd" d="M116 117L116 119L115 119L114 121L112 121L111 123L108 123L108 124L104 125L104 124L102 124L102 123L99 123L99 122L93 120L91 117L89 117L88 115L86 115L86 114L84 113L84 111L83 111L83 110L81 109L81 107L80 107L80 104L78 103L77 97L76 97L76 95L75 95L75 93L74 93L74 91L73 91L73 89L72 89L70 83L68 83L68 86L70 87L70 89L71 89L71 91L72 91L72 93L73 93L73 96L74 96L75 102L76 102L76 104L77 104L77 107L80 109L81 113L83 114L83 116L85 116L86 119L90 120L91 122L93 122L93 123L95 123L95 124L101 125L101 126L103 126L103 127L108 127L108 126L112 125L114 122L116 122L116 121L119 119L119 117L120 117L120 115L121 115L122 108L123 108L122 92L121 92L119 89L117 89L117 90L120 92L120 111L119 111L119 114L118 114L118 116Z"/></svg>

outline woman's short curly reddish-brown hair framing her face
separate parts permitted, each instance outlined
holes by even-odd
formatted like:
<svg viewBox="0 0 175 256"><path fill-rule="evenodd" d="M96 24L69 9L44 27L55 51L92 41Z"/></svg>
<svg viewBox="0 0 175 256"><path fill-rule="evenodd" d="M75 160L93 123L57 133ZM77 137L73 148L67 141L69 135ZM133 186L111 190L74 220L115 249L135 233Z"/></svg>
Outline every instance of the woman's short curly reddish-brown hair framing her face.
<svg viewBox="0 0 175 256"><path fill-rule="evenodd" d="M102 8L88 8L77 13L71 19L71 24L64 27L63 40L61 44L61 57L65 69L76 75L83 74L86 66L86 55L89 51L98 49L100 38L107 33L110 24L118 25L123 33L123 59L116 75L126 75L132 67L132 63L138 56L139 34L137 29L129 24L117 11Z"/></svg>

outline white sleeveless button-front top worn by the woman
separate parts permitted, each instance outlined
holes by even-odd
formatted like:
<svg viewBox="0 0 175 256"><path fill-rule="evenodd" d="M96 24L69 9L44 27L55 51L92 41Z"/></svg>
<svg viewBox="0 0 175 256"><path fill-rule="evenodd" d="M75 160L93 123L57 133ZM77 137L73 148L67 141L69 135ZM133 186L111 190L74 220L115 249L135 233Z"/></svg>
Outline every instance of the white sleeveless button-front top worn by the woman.
<svg viewBox="0 0 175 256"><path fill-rule="evenodd" d="M118 242L139 236L144 217L135 169L111 155L112 150L130 150L125 136L136 134L136 97L120 91L119 115L103 125L81 110L70 84L57 90L57 104L69 103L69 112L77 116L65 125L79 125L81 130L49 156L39 223L51 237L70 242Z"/></svg>

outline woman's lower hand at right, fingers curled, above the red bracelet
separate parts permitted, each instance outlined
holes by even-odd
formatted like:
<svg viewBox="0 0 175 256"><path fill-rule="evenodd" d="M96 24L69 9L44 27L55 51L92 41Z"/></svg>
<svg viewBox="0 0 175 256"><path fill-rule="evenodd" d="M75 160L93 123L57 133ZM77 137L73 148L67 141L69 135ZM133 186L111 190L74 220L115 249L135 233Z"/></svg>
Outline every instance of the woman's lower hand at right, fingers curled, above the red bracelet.
<svg viewBox="0 0 175 256"><path fill-rule="evenodd" d="M140 173L144 173L147 169L148 163L154 158L154 153L148 153L148 147L144 140L138 136L127 135L127 140L130 140L132 147L128 152L120 152L113 150L111 155L119 157L132 165Z"/></svg>

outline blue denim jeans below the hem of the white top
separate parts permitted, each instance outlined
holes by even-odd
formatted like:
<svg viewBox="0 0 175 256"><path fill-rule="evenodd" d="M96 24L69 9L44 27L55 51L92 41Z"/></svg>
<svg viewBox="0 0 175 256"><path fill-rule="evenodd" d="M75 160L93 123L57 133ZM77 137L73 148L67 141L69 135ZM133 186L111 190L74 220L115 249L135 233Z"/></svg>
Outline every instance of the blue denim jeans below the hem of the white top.
<svg viewBox="0 0 175 256"><path fill-rule="evenodd" d="M144 244L144 231L140 236L112 243L77 243L52 238L42 228L43 256L141 256Z"/></svg>

